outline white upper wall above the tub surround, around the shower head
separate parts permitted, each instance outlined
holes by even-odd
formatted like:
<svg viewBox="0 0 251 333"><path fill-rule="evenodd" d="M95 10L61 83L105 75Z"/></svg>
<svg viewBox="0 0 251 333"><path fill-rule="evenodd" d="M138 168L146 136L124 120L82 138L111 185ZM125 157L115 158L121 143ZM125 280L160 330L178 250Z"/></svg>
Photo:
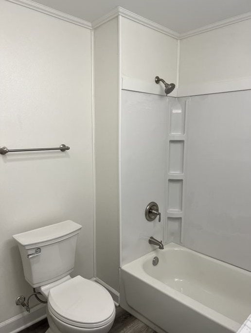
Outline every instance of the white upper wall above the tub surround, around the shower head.
<svg viewBox="0 0 251 333"><path fill-rule="evenodd" d="M181 40L120 17L123 89L174 97L251 88L251 19ZM180 45L180 48L179 48Z"/></svg>

